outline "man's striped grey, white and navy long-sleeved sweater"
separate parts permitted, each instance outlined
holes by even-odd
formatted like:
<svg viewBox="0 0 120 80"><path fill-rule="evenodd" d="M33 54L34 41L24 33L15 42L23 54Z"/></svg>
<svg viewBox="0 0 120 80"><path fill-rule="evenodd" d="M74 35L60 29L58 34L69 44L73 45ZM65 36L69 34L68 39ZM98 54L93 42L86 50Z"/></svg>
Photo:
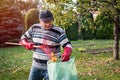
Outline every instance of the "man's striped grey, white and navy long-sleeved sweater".
<svg viewBox="0 0 120 80"><path fill-rule="evenodd" d="M60 56L60 46L72 47L64 30L54 25L51 29L46 30L39 23L34 24L22 35L21 39L24 38L31 40L35 45L48 45L50 52L55 53L57 57ZM48 49L46 48L46 50ZM49 56L40 48L33 49L33 58L43 62L49 60ZM35 60L33 60L33 66L46 69L45 63L38 63Z"/></svg>

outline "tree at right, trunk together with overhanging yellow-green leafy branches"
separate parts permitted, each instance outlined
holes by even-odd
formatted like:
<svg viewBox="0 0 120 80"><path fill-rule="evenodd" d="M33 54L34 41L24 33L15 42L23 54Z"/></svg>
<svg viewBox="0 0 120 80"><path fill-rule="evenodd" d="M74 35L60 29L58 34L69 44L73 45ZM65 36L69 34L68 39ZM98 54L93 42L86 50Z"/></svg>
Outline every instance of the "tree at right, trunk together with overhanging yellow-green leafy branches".
<svg viewBox="0 0 120 80"><path fill-rule="evenodd" d="M120 1L119 0L77 0L77 11L79 17L82 17L88 12L100 11L108 16L114 24L114 46L113 57L119 59L119 16L120 16ZM107 13L111 14L108 15Z"/></svg>

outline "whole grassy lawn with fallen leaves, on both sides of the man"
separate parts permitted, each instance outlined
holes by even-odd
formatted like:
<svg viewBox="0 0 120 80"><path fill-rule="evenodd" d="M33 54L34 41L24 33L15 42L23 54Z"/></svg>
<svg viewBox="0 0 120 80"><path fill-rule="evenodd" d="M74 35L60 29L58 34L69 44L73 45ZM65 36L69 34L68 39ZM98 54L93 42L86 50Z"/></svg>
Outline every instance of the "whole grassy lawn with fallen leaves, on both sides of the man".
<svg viewBox="0 0 120 80"><path fill-rule="evenodd" d="M113 40L72 41L79 80L119 80L120 60L112 56ZM27 80L32 51L0 48L0 80Z"/></svg>

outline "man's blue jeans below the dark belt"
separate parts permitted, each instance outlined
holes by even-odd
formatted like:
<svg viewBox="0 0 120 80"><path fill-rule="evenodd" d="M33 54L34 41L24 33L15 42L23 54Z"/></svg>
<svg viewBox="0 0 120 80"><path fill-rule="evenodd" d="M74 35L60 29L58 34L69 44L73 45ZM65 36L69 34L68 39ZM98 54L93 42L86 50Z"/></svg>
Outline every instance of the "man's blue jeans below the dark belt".
<svg viewBox="0 0 120 80"><path fill-rule="evenodd" d="M47 70L32 67L28 80L49 80Z"/></svg>

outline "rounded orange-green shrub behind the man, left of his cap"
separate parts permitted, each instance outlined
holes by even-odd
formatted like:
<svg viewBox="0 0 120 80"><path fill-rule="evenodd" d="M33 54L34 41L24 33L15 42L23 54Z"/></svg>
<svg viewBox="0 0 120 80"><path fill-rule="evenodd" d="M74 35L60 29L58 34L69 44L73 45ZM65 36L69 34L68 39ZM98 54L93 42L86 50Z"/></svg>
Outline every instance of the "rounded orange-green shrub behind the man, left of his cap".
<svg viewBox="0 0 120 80"><path fill-rule="evenodd" d="M25 29L27 30L31 25L39 22L39 10L30 9L25 16Z"/></svg>

